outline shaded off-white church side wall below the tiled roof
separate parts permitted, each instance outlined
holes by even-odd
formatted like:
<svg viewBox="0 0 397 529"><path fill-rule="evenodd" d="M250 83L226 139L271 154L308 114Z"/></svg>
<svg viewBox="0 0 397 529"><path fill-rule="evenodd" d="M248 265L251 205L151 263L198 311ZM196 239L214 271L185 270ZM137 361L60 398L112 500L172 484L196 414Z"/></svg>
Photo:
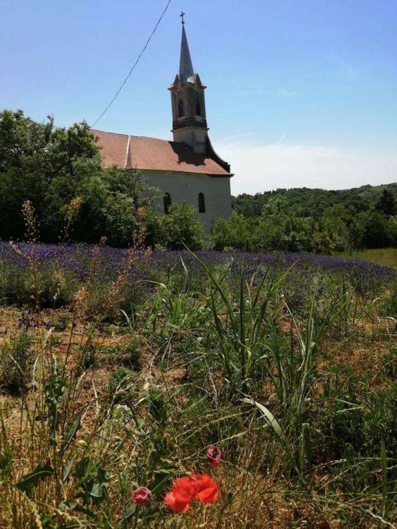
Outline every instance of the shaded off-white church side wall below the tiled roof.
<svg viewBox="0 0 397 529"><path fill-rule="evenodd" d="M209 233L218 217L229 217L231 213L230 177L211 177L187 172L142 171L149 186L157 187L161 193L169 193L173 204L193 204L198 212L198 194L205 198L205 213L199 213ZM158 212L164 213L163 198L159 200Z"/></svg>

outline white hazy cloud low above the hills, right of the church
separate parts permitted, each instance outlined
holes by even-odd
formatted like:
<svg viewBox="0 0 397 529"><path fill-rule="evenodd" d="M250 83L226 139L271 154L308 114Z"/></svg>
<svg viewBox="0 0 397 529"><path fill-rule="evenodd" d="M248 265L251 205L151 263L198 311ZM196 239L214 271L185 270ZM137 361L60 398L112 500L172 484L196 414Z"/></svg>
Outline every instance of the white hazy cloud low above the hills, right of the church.
<svg viewBox="0 0 397 529"><path fill-rule="evenodd" d="M233 194L279 187L346 189L397 181L397 154L327 145L223 141L215 150L231 164Z"/></svg>

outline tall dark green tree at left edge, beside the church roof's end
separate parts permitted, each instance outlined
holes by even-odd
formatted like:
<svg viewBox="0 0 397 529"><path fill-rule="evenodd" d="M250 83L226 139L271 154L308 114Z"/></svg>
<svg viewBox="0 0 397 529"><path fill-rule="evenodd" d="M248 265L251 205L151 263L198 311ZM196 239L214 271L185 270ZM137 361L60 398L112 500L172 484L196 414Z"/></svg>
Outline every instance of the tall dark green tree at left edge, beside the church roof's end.
<svg viewBox="0 0 397 529"><path fill-rule="evenodd" d="M38 123L20 110L1 112L0 238L23 237L21 208L30 200L43 239L57 240L60 207L75 196L87 174L100 171L99 149L86 123L56 128L51 116Z"/></svg>

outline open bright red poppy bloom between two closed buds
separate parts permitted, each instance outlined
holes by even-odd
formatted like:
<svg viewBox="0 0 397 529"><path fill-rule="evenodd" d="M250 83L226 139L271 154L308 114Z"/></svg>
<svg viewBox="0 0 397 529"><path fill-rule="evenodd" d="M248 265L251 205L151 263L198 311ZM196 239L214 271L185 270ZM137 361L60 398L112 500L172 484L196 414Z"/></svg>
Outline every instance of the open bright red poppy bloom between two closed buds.
<svg viewBox="0 0 397 529"><path fill-rule="evenodd" d="M186 513L194 498L209 504L213 503L218 495L218 485L210 476L193 474L191 477L184 476L176 480L172 491L165 497L165 502L177 513Z"/></svg>

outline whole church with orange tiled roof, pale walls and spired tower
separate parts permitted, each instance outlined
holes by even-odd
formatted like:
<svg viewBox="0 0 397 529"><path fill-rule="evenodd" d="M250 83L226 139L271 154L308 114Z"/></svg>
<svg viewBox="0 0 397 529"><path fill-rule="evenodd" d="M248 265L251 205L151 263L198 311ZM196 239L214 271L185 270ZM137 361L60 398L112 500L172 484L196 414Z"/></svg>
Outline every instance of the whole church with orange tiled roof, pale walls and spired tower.
<svg viewBox="0 0 397 529"><path fill-rule="evenodd" d="M205 86L194 73L182 16L179 74L171 94L173 141L92 130L104 167L139 169L148 185L160 189L159 213L171 204L193 204L209 233L214 221L231 212L229 163L214 151L205 113Z"/></svg>

